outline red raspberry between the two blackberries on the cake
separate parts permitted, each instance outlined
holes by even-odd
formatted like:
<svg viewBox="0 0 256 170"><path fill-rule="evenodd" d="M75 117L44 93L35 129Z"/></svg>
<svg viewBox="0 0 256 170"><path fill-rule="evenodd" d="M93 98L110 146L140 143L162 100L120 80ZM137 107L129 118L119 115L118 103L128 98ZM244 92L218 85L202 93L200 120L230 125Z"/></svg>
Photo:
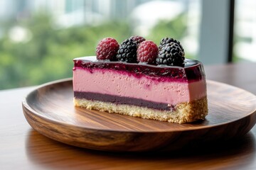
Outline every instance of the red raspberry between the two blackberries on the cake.
<svg viewBox="0 0 256 170"><path fill-rule="evenodd" d="M158 51L158 47L153 41L145 40L139 44L137 50L137 61L154 64L156 62Z"/></svg>

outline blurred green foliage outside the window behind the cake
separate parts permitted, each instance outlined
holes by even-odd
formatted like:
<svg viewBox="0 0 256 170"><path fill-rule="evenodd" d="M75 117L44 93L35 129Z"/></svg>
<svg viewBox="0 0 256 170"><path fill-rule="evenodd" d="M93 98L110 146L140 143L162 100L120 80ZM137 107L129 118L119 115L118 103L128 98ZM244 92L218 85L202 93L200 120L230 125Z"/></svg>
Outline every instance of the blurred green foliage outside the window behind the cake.
<svg viewBox="0 0 256 170"><path fill-rule="evenodd" d="M186 27L181 21L181 18L161 21L148 38L156 44L166 36L182 38ZM73 58L95 55L97 42L102 38L112 37L121 43L132 35L132 28L122 21L57 29L50 16L41 14L18 23L9 21L4 26L4 37L0 39L0 89L72 77ZM31 32L31 40L13 42L7 32L13 26L27 28Z"/></svg>

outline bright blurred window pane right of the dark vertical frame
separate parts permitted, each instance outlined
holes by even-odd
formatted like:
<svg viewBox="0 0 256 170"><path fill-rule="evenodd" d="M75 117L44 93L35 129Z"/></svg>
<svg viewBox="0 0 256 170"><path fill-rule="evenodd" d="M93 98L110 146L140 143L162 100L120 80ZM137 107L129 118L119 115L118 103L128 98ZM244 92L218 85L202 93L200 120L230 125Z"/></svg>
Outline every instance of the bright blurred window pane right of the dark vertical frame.
<svg viewBox="0 0 256 170"><path fill-rule="evenodd" d="M256 62L256 1L235 1L234 62Z"/></svg>

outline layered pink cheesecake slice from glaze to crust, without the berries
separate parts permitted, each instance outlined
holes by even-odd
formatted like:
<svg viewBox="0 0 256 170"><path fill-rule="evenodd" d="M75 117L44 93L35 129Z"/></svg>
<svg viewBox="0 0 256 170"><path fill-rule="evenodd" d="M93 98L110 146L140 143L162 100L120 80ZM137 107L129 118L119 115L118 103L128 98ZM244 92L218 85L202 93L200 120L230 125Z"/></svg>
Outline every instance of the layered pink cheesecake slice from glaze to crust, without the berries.
<svg viewBox="0 0 256 170"><path fill-rule="evenodd" d="M206 75L197 60L183 66L75 58L75 106L169 123L208 114Z"/></svg>

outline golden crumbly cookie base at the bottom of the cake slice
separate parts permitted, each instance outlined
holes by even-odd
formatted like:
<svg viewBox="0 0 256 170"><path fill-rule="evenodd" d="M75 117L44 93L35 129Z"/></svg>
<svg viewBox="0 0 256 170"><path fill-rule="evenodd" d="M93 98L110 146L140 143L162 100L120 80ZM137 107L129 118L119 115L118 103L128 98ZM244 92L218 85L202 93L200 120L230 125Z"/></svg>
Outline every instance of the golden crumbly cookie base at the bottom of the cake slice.
<svg viewBox="0 0 256 170"><path fill-rule="evenodd" d="M152 108L115 104L103 101L90 101L81 98L74 98L75 106L105 111L109 113L119 113L122 115L131 115L139 118L167 121L169 123L191 123L196 120L204 120L208 114L207 98L179 103L174 111L159 111Z"/></svg>

